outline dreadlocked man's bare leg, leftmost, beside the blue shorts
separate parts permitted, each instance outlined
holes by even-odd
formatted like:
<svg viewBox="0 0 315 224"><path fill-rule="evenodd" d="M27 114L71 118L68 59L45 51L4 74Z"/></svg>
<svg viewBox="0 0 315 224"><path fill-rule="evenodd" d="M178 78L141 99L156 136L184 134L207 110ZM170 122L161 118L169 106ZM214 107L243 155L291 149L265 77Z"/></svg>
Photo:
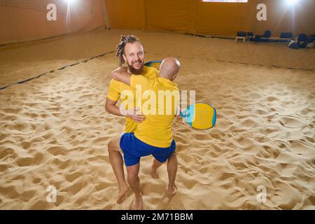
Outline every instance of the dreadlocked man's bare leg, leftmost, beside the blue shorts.
<svg viewBox="0 0 315 224"><path fill-rule="evenodd" d="M120 137L111 139L109 141L109 160L111 160L111 167L113 167L113 172L116 176L119 186L119 193L117 198L117 203L121 204L125 200L125 195L127 194L129 188L125 181L124 167L123 167L123 152L120 149Z"/></svg>

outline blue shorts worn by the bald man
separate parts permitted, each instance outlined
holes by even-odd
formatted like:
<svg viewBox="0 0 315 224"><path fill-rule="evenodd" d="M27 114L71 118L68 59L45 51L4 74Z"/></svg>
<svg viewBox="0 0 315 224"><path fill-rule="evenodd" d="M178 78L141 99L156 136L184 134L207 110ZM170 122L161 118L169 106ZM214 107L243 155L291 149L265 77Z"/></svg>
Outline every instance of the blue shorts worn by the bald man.
<svg viewBox="0 0 315 224"><path fill-rule="evenodd" d="M124 153L125 165L128 167L136 165L140 162L140 158L146 155L153 155L159 162L165 162L175 151L176 143L173 139L171 146L160 148L137 139L134 133L125 133L120 139L120 148Z"/></svg>

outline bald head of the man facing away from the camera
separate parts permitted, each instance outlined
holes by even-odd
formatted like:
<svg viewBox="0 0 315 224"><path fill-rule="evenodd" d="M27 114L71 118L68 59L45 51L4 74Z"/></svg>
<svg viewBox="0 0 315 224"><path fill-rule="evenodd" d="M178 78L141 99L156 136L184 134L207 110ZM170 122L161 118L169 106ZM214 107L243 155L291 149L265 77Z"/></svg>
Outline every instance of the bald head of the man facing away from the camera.
<svg viewBox="0 0 315 224"><path fill-rule="evenodd" d="M174 80L179 73L181 63L174 57L165 58L160 66L160 76L169 80Z"/></svg>

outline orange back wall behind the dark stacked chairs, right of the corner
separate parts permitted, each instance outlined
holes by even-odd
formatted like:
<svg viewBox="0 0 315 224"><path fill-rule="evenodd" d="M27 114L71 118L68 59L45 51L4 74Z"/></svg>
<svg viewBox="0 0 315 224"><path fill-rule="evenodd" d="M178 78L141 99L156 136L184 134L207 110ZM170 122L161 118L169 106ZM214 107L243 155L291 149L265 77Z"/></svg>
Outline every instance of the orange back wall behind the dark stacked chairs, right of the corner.
<svg viewBox="0 0 315 224"><path fill-rule="evenodd" d="M201 0L104 0L112 28L176 31L181 33L235 36L253 31L272 36L283 31L315 33L315 1L300 0L294 7L286 0L248 0L248 3L204 3ZM258 21L258 3L267 6L267 21Z"/></svg>

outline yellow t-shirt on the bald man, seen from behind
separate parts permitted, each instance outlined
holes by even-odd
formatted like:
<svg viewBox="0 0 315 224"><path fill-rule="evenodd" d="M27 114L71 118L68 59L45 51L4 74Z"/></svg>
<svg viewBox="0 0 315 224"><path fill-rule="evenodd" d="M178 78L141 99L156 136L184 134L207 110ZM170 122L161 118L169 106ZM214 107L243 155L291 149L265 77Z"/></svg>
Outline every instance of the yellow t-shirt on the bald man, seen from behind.
<svg viewBox="0 0 315 224"><path fill-rule="evenodd" d="M148 79L132 75L130 86L138 91L137 85L141 85L142 98L139 105L141 104L141 113L146 116L146 120L138 123L134 136L151 146L171 146L173 120L179 104L179 88L167 78Z"/></svg>

